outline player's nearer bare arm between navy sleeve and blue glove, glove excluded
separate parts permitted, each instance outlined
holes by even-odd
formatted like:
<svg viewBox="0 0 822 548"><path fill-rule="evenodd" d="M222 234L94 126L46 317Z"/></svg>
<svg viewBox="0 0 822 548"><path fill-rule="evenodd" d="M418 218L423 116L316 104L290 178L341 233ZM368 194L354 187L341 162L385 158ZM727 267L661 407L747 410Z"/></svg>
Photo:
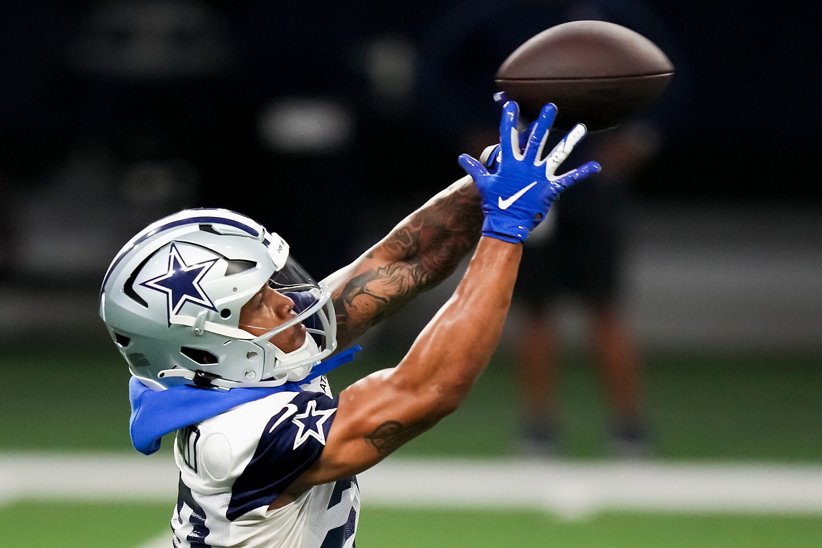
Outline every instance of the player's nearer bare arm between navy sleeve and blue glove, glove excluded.
<svg viewBox="0 0 822 548"><path fill-rule="evenodd" d="M520 256L519 242L482 238L454 295L403 361L339 394L326 449L289 495L372 467L459 407L496 348Z"/></svg>

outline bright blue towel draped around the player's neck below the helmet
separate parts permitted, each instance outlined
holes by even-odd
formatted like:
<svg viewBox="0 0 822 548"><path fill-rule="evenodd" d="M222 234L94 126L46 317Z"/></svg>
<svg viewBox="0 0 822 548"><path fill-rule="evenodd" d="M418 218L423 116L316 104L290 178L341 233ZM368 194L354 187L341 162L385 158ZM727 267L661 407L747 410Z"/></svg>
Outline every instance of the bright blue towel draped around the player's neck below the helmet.
<svg viewBox="0 0 822 548"><path fill-rule="evenodd" d="M132 377L128 381L128 399L132 403L129 431L134 449L150 455L159 449L160 439L169 432L216 417L242 403L266 398L271 394L302 392L300 385L352 361L354 353L360 350L362 348L358 346L349 348L321 361L305 379L272 388L233 388L224 391L183 385L155 391Z"/></svg>

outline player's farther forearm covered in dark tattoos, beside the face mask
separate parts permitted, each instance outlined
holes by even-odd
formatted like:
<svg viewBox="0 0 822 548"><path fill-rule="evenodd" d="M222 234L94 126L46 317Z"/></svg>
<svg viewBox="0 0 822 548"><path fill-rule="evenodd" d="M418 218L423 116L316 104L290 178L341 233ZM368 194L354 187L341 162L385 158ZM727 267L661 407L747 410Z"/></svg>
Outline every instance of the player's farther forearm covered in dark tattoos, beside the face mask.
<svg viewBox="0 0 822 548"><path fill-rule="evenodd" d="M333 291L339 348L448 278L477 244L482 226L477 187L463 177L323 280Z"/></svg>

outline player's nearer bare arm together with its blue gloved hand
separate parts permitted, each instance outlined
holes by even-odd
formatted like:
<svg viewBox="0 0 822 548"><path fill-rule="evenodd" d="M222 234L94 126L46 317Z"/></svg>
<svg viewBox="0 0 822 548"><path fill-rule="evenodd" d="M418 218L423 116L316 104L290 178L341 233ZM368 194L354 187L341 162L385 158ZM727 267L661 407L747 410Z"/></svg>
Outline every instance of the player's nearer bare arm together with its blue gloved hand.
<svg viewBox="0 0 822 548"><path fill-rule="evenodd" d="M517 108L506 104L496 173L488 173L469 156L460 157L478 189L484 215L483 238L469 269L398 366L368 375L339 394L321 457L284 490L274 507L288 504L311 486L372 467L453 412L468 394L500 337L522 255L521 242L564 188L599 169L597 163L587 163L554 175L556 166L584 136L583 126L575 127L541 159L555 113L552 104L543 108L527 147L520 150L516 145Z"/></svg>

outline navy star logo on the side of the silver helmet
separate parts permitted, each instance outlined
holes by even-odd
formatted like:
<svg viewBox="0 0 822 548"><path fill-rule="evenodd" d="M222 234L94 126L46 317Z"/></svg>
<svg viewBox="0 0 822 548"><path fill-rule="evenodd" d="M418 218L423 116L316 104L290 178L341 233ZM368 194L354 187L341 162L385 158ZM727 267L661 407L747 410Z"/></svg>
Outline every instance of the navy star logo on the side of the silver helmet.
<svg viewBox="0 0 822 548"><path fill-rule="evenodd" d="M187 302L216 311L214 303L205 294L200 282L217 260L211 259L196 265L187 265L180 256L177 246L172 242L169 253L169 271L140 285L168 295L169 319L172 315L176 315Z"/></svg>

